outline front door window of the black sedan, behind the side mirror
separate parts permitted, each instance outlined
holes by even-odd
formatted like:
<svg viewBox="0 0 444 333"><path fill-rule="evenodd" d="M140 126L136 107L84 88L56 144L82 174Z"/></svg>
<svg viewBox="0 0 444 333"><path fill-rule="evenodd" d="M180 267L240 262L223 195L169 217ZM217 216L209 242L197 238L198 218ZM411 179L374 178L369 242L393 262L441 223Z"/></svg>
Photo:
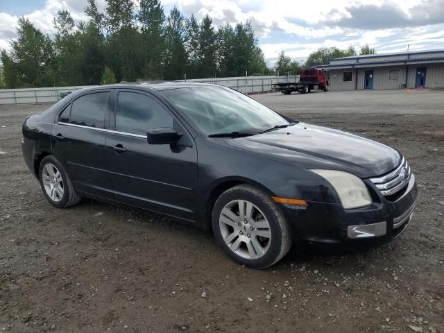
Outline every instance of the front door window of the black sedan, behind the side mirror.
<svg viewBox="0 0 444 333"><path fill-rule="evenodd" d="M116 130L146 135L153 128L173 128L173 117L162 105L144 94L119 92L116 110Z"/></svg>

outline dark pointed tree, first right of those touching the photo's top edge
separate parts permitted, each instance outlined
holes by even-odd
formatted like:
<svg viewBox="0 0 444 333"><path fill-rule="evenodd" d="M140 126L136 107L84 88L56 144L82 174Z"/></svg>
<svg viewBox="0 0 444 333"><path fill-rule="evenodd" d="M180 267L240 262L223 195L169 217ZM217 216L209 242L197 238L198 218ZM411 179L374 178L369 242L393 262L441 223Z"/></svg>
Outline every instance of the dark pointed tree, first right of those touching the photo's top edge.
<svg viewBox="0 0 444 333"><path fill-rule="evenodd" d="M185 53L185 20L176 6L167 18L165 33L164 76L167 80L183 78L187 54Z"/></svg>

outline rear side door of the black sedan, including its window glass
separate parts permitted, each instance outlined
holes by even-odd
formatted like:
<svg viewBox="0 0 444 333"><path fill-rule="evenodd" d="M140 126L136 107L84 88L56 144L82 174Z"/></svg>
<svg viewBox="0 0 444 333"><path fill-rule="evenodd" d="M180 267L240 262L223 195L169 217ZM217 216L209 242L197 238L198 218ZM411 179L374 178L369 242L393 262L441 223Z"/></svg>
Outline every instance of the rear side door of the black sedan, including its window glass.
<svg viewBox="0 0 444 333"><path fill-rule="evenodd" d="M109 98L110 91L100 91L74 99L58 115L51 131L51 144L78 191L112 199L105 158Z"/></svg>

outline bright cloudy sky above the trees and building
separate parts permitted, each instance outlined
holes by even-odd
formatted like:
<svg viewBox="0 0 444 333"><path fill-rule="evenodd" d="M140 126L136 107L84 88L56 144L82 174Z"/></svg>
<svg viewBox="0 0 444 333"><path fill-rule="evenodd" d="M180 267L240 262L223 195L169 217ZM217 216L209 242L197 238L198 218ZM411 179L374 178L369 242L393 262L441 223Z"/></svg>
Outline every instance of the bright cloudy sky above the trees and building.
<svg viewBox="0 0 444 333"><path fill-rule="evenodd" d="M137 3L137 0L134 0ZM105 0L98 0L105 8ZM53 35L53 15L68 9L86 20L87 0L0 0L0 49L17 36L19 16ZM216 26L249 20L268 64L281 50L305 60L321 46L359 49L368 43L377 53L444 49L444 0L164 0L167 14L177 6L185 17L209 14Z"/></svg>

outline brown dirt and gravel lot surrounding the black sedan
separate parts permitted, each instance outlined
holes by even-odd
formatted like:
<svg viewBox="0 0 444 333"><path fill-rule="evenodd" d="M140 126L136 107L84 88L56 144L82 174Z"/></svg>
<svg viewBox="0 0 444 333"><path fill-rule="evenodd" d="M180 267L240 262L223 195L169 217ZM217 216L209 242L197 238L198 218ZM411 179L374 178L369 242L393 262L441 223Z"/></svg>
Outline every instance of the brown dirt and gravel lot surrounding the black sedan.
<svg viewBox="0 0 444 333"><path fill-rule="evenodd" d="M24 117L48 105L0 106L0 331L444 332L444 92L255 98L398 148L420 193L404 234L371 248L298 244L254 271L163 216L92 201L58 210L20 149Z"/></svg>

